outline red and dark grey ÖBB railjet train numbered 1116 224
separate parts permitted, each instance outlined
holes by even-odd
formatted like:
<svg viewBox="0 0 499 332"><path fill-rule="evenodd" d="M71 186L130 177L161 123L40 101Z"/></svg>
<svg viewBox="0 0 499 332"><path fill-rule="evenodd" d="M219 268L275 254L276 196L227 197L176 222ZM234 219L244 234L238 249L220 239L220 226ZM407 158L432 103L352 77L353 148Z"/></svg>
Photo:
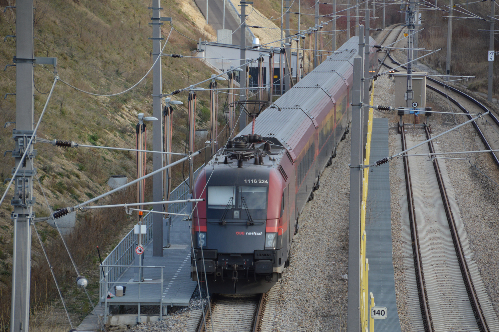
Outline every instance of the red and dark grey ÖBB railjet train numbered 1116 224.
<svg viewBox="0 0 499 332"><path fill-rule="evenodd" d="M328 56L196 179L196 198L205 200L193 213L191 278L210 293L264 293L280 281L298 217L348 133L357 47L352 37ZM370 70L375 64L371 55Z"/></svg>

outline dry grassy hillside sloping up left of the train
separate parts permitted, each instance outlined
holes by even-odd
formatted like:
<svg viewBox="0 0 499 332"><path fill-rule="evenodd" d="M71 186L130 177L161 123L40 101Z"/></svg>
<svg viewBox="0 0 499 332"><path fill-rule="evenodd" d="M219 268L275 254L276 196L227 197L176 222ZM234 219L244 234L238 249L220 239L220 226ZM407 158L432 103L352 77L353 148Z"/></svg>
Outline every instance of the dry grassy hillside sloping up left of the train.
<svg viewBox="0 0 499 332"><path fill-rule="evenodd" d="M196 49L199 37L207 35L197 27L194 18L183 10L193 1L164 0L163 16L171 16L174 27L187 37L172 31L166 53L190 55ZM0 0L0 6L15 5L11 0ZM35 0L34 55L57 57L57 70L61 79L86 91L110 94L122 91L137 82L152 64L152 35L150 1L145 0ZM194 10L195 11L195 10ZM0 37L15 34L15 9L0 14ZM167 22L168 23L168 22ZM170 26L162 27L166 38ZM192 38L192 39L189 39ZM8 38L0 43L0 59L3 68L12 63L15 55L15 40ZM163 58L164 93L183 88L206 79L213 71L196 59ZM53 79L49 66L35 65L35 119L38 118ZM14 125L3 128L3 123L15 121L15 67L0 71L0 151L11 150L11 130ZM47 139L69 139L90 145L120 147L135 146L137 114L152 115L152 75L132 91L115 97L94 97L78 92L60 82L57 83L50 100L38 136ZM187 95L176 96L187 104ZM206 127L209 111L206 107L209 95L198 94L198 127ZM220 118L223 119L223 116ZM186 133L186 109L176 107L174 111L174 150L184 151ZM222 120L223 121L223 120ZM221 123L223 125L225 123ZM148 130L152 126L148 125ZM152 131L150 131L152 133ZM73 206L107 190L111 175L127 175L135 178L135 154L112 152L102 149L62 149L51 145L37 144L38 156L34 161L40 182L52 209ZM201 157L199 157L201 159ZM201 160L196 162L198 165ZM148 170L152 168L148 159ZM198 166L197 165L197 166ZM0 189L3 181L10 177L13 158L0 154ZM187 170L187 168L186 168ZM174 185L182 181L182 169L174 170ZM150 186L150 182L147 184ZM42 190L34 186L37 216L48 215ZM8 196L7 196L8 198ZM109 202L134 201L134 191L115 195ZM99 202L104 203L104 202ZM12 264L12 225L9 200L0 207L0 331L8 328L10 278ZM77 226L67 238L70 250L80 269L89 278L89 290L96 300L98 245L105 256L128 232L135 217L127 217L123 211L98 211L80 213ZM69 309L77 323L91 309L84 294L74 285L76 277L57 233L44 222L37 224L41 240L49 251L49 258L62 286ZM33 236L35 236L33 234ZM41 255L36 237L33 237L32 269L32 323L50 321L42 308L52 308L55 322L65 324L49 270ZM55 301L55 302L54 302ZM52 306L54 305L54 306Z"/></svg>

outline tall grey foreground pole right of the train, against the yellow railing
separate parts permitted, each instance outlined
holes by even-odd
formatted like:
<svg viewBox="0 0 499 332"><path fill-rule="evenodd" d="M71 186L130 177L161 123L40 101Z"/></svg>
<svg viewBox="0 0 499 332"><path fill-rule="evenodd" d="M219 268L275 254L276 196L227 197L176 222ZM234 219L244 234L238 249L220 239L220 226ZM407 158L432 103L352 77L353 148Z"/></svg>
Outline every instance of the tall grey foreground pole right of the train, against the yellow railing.
<svg viewBox="0 0 499 332"><path fill-rule="evenodd" d="M348 226L347 331L360 332L360 202L362 195L362 58L353 58L352 142L350 146L350 218Z"/></svg>

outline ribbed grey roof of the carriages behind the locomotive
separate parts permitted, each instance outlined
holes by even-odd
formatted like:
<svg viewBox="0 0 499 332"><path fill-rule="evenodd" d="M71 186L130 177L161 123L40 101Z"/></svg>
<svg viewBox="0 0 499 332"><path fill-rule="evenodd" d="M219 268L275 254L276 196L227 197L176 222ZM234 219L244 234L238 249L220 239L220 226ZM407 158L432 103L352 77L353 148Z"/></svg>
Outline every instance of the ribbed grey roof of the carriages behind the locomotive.
<svg viewBox="0 0 499 332"><path fill-rule="evenodd" d="M336 98L352 84L348 77L353 72L353 57L357 54L358 41L359 37L350 38L338 47L339 53L327 56L326 60L279 97L274 104L281 111L270 106L261 112L255 120L254 133L277 139L294 155L293 150L296 150L302 136L300 133L322 121L318 118L323 109L321 105L325 106L330 101L336 104L340 101ZM370 38L370 44L374 45L373 38ZM239 135L250 133L251 123Z"/></svg>

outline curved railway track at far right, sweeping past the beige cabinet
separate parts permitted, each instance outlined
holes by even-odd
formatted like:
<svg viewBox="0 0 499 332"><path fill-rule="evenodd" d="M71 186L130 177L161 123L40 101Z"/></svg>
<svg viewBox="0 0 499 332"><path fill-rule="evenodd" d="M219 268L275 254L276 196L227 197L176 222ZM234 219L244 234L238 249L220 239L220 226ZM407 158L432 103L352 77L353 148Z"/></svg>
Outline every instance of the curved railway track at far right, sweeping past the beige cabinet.
<svg viewBox="0 0 499 332"><path fill-rule="evenodd" d="M385 38L388 37L388 35L392 34L395 35L395 37L392 37L391 42L394 42L395 40L398 39L400 33L402 32L402 28L395 30L391 33L388 33ZM394 33L395 32L395 33ZM385 39L381 42L383 44ZM385 60L386 58L390 58L390 61L396 65L400 65L401 63L397 61L392 54L390 54L390 51L387 50L385 52L385 55L383 56L383 59L378 59L380 62L380 66L378 67L378 70L381 66L385 66L388 69L393 69L390 65L388 65ZM402 68L406 68L403 66ZM395 71L399 71L395 69ZM448 100L451 103L451 107L455 108L457 111L462 111L463 113L467 114L468 119L472 118L471 113L481 113L481 112L487 112L489 109L487 106L485 106L483 103L481 103L479 100L474 98L473 96L456 89L453 86L447 85L444 82L441 82L435 78L432 77L427 77L427 84L426 87L432 91L437 92L438 94L442 95L442 97L446 100ZM452 92L454 94L454 97L449 95L449 92ZM485 115L484 118L486 121L474 121L472 122L473 127L477 131L480 139L484 143L486 149L488 150L493 150L493 149L499 149L499 119L495 114L492 112ZM490 127L488 128L487 125ZM491 157L494 159L494 162L496 165L499 167L499 152L491 152Z"/></svg>

